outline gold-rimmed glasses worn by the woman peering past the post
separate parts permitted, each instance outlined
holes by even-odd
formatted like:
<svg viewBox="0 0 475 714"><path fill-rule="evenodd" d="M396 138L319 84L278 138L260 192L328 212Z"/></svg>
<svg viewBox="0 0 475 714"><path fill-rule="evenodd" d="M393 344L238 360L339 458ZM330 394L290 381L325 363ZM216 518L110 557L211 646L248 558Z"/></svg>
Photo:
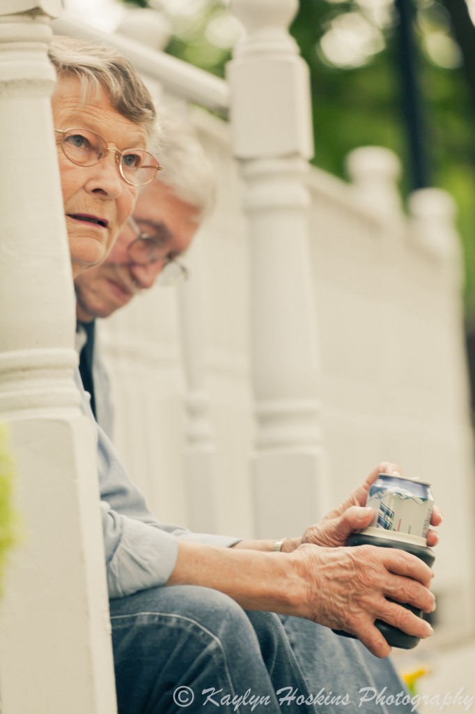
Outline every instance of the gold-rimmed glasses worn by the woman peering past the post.
<svg viewBox="0 0 475 714"><path fill-rule="evenodd" d="M113 151L118 170L124 181L131 186L145 186L162 168L155 156L143 149L109 149L106 140L91 129L55 129L61 134L59 143L63 154L76 166L94 166L108 151Z"/></svg>

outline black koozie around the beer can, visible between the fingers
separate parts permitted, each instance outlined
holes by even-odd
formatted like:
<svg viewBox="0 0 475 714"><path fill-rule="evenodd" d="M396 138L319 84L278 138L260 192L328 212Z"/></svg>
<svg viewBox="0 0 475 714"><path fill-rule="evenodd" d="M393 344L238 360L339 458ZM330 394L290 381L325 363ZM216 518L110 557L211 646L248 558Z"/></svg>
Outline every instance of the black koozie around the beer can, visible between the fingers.
<svg viewBox="0 0 475 714"><path fill-rule="evenodd" d="M399 548L399 550L405 550L406 553L412 553L412 555L417 555L418 558L424 560L424 563L432 567L434 563L434 551L428 548L427 545L414 545L414 543L405 543L404 540L395 540L394 538L379 538L377 535L367 535L366 533L352 533L348 538L347 545L379 545L382 548ZM389 599L389 598L388 598ZM393 600L394 602L394 600ZM422 618L422 610L417 610L413 608L412 605L407 605L406 603L400 603L404 608L411 610L414 615ZM384 639L392 647L399 647L403 650L412 650L413 647L419 642L418 637L414 635L408 635L407 633L399 630L393 625L388 625L383 622L383 620L376 620L374 625L378 628L379 632L384 635ZM344 635L344 637L352 637L344 630L333 630L337 635Z"/></svg>

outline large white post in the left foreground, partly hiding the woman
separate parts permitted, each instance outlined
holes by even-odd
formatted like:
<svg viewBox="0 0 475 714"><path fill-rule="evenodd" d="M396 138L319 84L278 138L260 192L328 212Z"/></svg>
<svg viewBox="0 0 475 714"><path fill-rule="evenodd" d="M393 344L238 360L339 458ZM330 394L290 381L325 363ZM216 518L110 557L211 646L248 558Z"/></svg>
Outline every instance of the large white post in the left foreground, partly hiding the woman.
<svg viewBox="0 0 475 714"><path fill-rule="evenodd" d="M59 0L0 6L0 418L21 543L1 602L3 714L113 714L93 429L73 382L74 298L46 56ZM15 14L16 13L16 14Z"/></svg>

